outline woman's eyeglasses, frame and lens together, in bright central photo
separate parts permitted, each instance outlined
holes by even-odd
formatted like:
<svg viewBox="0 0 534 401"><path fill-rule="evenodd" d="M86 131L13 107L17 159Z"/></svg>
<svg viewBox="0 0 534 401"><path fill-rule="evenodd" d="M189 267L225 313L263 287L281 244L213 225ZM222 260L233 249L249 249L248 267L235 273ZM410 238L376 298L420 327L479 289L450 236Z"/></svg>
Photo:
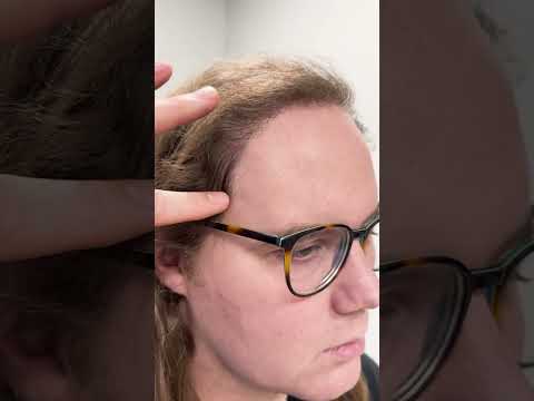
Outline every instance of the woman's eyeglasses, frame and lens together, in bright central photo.
<svg viewBox="0 0 534 401"><path fill-rule="evenodd" d="M314 226L277 236L218 222L204 222L207 227L256 239L283 250L286 284L295 296L315 295L339 274L354 239L364 247L369 235L379 235L378 209L356 229L344 224Z"/></svg>

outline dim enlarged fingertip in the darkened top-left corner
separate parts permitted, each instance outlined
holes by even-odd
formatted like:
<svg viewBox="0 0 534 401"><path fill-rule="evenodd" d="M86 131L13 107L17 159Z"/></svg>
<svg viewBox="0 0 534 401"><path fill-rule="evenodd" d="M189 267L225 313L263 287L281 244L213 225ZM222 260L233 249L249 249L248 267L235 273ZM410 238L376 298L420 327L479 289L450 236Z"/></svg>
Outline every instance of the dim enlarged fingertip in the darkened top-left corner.
<svg viewBox="0 0 534 401"><path fill-rule="evenodd" d="M113 0L17 0L0 2L0 42L9 42L63 20L97 11Z"/></svg>

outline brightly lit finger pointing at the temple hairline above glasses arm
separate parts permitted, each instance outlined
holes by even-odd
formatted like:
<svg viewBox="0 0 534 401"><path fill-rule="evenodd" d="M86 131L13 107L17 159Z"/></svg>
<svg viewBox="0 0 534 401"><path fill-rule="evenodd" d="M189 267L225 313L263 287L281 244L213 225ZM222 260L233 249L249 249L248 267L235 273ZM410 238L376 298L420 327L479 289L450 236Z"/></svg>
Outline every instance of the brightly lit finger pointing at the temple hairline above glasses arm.
<svg viewBox="0 0 534 401"><path fill-rule="evenodd" d="M178 193L156 189L155 226L198 221L222 213L229 205L225 193Z"/></svg>

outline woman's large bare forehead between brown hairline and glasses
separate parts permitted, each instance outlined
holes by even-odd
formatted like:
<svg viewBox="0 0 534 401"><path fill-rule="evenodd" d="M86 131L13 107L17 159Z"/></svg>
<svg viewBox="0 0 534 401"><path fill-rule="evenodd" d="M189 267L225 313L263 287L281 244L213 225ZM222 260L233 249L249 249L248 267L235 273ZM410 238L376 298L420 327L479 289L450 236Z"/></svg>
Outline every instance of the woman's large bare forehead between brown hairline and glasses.
<svg viewBox="0 0 534 401"><path fill-rule="evenodd" d="M247 144L230 198L224 219L250 228L356 225L377 203L368 147L338 107L289 108Z"/></svg>

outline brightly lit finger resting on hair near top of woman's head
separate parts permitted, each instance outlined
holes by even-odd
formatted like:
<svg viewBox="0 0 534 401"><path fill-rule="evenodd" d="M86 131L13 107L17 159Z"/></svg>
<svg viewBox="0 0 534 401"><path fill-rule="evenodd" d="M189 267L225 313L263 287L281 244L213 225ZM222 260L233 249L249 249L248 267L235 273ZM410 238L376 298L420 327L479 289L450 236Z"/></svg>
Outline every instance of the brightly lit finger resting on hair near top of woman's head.
<svg viewBox="0 0 534 401"><path fill-rule="evenodd" d="M204 117L218 102L219 95L212 87L205 87L192 94L156 100L155 133L158 135Z"/></svg>

